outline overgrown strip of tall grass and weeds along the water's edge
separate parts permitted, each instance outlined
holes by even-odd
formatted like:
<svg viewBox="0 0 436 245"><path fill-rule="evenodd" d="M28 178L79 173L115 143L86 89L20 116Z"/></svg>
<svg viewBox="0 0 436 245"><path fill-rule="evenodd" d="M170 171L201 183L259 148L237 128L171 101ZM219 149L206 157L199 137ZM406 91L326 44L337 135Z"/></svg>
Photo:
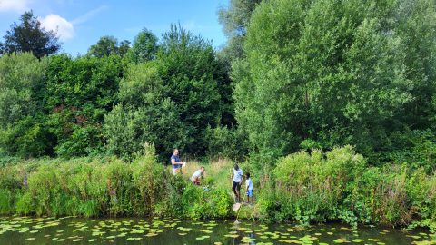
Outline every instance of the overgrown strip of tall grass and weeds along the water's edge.
<svg viewBox="0 0 436 245"><path fill-rule="evenodd" d="M83 217L228 219L232 161L188 162L183 176L157 162L152 150L134 162L116 158L31 160L0 169L0 213ZM208 191L189 176L204 165ZM253 207L240 218L301 224L340 220L351 225L436 226L436 176L405 165L369 166L342 147L297 152L275 168L254 169Z"/></svg>

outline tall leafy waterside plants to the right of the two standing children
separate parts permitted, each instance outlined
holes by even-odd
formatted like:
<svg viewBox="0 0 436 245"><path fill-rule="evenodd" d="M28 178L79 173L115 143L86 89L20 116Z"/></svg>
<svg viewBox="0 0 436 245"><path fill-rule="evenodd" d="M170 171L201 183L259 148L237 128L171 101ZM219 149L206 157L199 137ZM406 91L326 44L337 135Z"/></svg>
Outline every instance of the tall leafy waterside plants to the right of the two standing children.
<svg viewBox="0 0 436 245"><path fill-rule="evenodd" d="M434 227L434 174L423 169L370 167L347 146L294 153L272 172L272 179L260 183L263 220Z"/></svg>

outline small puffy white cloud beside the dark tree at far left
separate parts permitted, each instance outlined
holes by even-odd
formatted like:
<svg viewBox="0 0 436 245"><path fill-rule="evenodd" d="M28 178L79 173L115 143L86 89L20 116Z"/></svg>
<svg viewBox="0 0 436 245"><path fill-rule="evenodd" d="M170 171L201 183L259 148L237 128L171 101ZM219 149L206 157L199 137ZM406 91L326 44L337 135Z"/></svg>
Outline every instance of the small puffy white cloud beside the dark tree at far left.
<svg viewBox="0 0 436 245"><path fill-rule="evenodd" d="M53 30L62 41L70 39L74 35L73 24L59 15L46 15L44 18L39 18L39 21L45 30Z"/></svg>

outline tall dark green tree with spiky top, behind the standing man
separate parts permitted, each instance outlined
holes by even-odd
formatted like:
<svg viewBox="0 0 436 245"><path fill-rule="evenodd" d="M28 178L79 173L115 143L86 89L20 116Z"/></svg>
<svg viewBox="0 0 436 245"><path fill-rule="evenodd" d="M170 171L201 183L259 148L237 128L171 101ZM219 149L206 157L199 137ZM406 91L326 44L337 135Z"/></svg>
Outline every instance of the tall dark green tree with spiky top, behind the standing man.
<svg viewBox="0 0 436 245"><path fill-rule="evenodd" d="M163 34L160 46L156 64L165 84L164 97L176 104L186 137L195 139L181 148L203 153L206 127L220 122L223 113L220 86L227 83L223 81L223 70L215 59L212 45L181 26L172 25Z"/></svg>

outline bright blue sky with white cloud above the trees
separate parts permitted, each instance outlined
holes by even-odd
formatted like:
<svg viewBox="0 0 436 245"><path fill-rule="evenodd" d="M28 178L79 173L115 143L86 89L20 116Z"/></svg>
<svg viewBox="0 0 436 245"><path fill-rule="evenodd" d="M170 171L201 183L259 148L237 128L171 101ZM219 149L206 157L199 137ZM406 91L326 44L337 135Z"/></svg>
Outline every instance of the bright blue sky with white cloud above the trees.
<svg viewBox="0 0 436 245"><path fill-rule="evenodd" d="M193 34L211 40L215 48L226 39L217 11L229 0L0 0L0 40L11 25L20 23L25 11L33 10L47 30L57 30L61 52L86 54L103 35L119 42L129 40L143 29L159 38L171 24L183 25Z"/></svg>

